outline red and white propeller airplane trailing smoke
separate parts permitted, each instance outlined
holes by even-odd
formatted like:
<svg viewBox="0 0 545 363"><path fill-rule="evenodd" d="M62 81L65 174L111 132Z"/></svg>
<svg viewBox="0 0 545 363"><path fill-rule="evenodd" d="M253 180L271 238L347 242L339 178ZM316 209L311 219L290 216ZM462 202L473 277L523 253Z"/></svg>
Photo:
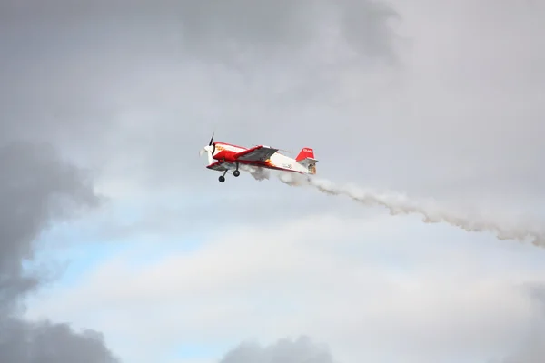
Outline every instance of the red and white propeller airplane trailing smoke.
<svg viewBox="0 0 545 363"><path fill-rule="evenodd" d="M203 156L208 152L208 165L206 168L217 172L223 172L218 178L225 182L225 174L233 171L238 177L241 172L239 166L251 165L253 167L279 170L282 172L297 172L300 174L316 173L316 159L311 148L303 147L295 159L278 152L280 149L270 146L258 145L252 148L233 145L227 142L213 142L213 134L208 145L199 152Z"/></svg>

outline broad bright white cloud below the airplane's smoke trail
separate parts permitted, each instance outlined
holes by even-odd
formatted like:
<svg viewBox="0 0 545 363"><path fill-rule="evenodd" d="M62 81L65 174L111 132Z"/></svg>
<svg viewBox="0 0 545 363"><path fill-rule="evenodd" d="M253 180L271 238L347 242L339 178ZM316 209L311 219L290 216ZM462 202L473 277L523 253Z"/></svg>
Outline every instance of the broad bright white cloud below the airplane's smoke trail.
<svg viewBox="0 0 545 363"><path fill-rule="evenodd" d="M300 334L346 363L485 361L532 325L519 285L545 272L540 249L387 215L330 213L214 234L159 257L155 241L129 247L74 289L42 291L28 314L94 322L134 362L167 359L179 346Z"/></svg>

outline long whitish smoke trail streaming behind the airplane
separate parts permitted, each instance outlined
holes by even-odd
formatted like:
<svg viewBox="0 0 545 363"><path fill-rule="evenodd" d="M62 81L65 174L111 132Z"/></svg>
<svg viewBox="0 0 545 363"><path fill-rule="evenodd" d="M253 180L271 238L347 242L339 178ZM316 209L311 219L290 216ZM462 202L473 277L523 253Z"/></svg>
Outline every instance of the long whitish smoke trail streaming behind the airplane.
<svg viewBox="0 0 545 363"><path fill-rule="evenodd" d="M333 182L321 179L310 178L292 173L281 173L281 182L292 186L312 186L318 191L330 195L345 195L353 201L365 205L380 205L390 211L391 215L397 214L421 214L425 223L446 222L452 226L459 227L465 231L490 231L499 240L519 240L524 242L527 239L535 246L545 247L545 232L536 231L531 228L507 227L504 223L491 221L482 216L464 216L462 213L444 211L437 204L431 201L413 201L405 195L393 192L379 192L362 190L354 186L336 186Z"/></svg>

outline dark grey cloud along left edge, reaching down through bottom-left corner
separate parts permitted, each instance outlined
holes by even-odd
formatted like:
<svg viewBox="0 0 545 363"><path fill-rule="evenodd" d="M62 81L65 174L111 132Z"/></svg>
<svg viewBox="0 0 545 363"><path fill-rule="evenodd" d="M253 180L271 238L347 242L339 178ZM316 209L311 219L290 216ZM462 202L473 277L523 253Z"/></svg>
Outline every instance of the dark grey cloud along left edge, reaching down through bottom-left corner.
<svg viewBox="0 0 545 363"><path fill-rule="evenodd" d="M24 266L38 248L36 238L52 221L96 206L92 183L44 144L0 144L0 170L0 361L114 362L94 331L77 334L65 324L17 318L21 299L43 282L40 270Z"/></svg>

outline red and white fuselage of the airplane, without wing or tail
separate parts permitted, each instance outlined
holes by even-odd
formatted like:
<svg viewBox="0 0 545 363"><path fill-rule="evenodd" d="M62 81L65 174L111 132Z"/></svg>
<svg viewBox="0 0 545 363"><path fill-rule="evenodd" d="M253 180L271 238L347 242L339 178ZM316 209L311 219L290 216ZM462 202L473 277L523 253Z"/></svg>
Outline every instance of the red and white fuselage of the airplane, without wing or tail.
<svg viewBox="0 0 545 363"><path fill-rule="evenodd" d="M216 161L224 161L224 166L228 169L236 169L236 163L238 162L239 164L253 165L267 169L282 170L286 172L300 172L303 174L309 172L307 167L300 164L295 159L283 155L280 152L275 152L268 160L265 160L263 162L250 162L243 160L235 161L233 156L238 152L248 150L248 148L226 142L214 142L214 144L215 150L212 154L213 159Z"/></svg>

